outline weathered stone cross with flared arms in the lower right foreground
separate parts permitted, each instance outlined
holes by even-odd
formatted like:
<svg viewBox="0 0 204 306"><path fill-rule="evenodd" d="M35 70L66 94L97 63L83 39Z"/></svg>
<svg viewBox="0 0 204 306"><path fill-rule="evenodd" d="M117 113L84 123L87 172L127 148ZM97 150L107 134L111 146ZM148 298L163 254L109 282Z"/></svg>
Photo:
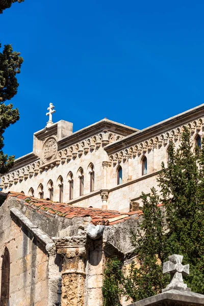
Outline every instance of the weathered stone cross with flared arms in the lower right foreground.
<svg viewBox="0 0 204 306"><path fill-rule="evenodd" d="M163 265L163 273L170 273L170 284L166 286L162 292L174 289L174 290L186 290L191 291L184 284L183 276L189 274L189 265L182 265L183 256L173 254L169 256L169 261L165 262Z"/></svg>

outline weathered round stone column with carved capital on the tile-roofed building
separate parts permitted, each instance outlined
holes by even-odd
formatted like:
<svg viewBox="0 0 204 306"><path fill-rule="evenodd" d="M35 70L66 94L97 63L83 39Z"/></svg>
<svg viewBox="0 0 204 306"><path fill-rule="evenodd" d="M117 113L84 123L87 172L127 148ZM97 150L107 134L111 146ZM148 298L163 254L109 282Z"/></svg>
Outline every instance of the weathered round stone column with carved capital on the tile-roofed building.
<svg viewBox="0 0 204 306"><path fill-rule="evenodd" d="M58 238L56 246L63 258L61 304L84 306L86 236Z"/></svg>

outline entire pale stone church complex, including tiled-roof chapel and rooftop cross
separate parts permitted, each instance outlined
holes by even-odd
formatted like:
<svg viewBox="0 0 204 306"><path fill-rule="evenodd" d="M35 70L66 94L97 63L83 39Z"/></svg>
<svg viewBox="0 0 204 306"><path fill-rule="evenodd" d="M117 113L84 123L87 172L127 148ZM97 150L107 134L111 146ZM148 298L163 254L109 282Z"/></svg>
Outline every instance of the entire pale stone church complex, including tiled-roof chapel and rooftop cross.
<svg viewBox="0 0 204 306"><path fill-rule="evenodd" d="M48 111L33 152L1 177L0 305L102 306L106 259L130 262L141 192L185 125L201 145L204 104L143 130L105 118L73 133Z"/></svg>

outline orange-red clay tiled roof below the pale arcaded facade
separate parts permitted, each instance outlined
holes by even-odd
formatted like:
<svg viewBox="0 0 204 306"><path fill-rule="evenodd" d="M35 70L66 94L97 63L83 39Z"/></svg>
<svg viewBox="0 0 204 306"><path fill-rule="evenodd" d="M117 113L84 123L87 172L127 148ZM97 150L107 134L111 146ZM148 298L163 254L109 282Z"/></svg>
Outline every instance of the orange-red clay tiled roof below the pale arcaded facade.
<svg viewBox="0 0 204 306"><path fill-rule="evenodd" d="M55 216L72 219L79 217L91 217L91 223L94 225L114 225L119 222L138 217L142 214L142 211L119 213L118 211L102 210L98 208L83 208L72 206L65 203L53 202L45 199L38 199L32 196L24 195L19 192L8 193L8 197L15 197L17 201L23 201L24 205L36 209L38 213L42 213L46 216Z"/></svg>

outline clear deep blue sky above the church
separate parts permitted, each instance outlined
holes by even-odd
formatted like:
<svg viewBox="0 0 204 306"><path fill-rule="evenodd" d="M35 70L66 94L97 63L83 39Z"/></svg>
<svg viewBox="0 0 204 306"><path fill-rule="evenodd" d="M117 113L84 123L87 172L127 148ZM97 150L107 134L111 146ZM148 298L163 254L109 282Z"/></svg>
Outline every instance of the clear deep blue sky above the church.
<svg viewBox="0 0 204 306"><path fill-rule="evenodd" d="M74 131L104 117L143 129L204 101L204 2L25 0L0 15L24 63L4 151L32 151L50 102Z"/></svg>

